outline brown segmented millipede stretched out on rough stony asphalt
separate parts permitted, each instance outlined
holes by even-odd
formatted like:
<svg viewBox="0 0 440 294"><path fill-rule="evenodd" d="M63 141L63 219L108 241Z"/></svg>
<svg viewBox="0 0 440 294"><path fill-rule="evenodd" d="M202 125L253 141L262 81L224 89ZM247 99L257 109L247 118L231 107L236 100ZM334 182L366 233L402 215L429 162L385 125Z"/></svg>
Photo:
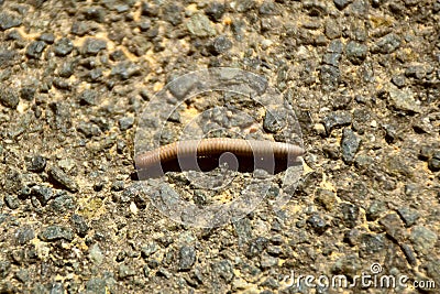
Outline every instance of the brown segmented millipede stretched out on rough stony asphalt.
<svg viewBox="0 0 440 294"><path fill-rule="evenodd" d="M305 151L300 146L280 142L211 138L167 144L136 155L134 163L136 170L142 171L142 177L147 178L166 171L199 170L199 160L218 159L226 152L234 154L244 165L253 157L255 162L262 162L254 167L271 170L277 161L286 161L288 164Z"/></svg>

